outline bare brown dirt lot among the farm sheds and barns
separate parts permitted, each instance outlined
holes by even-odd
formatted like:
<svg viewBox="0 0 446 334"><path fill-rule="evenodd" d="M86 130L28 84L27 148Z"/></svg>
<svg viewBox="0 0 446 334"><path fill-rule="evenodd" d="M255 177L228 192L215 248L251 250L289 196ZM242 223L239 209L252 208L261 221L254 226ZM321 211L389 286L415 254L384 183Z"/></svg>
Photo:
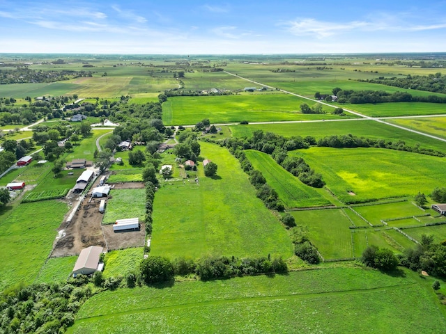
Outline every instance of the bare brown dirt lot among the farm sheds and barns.
<svg viewBox="0 0 446 334"><path fill-rule="evenodd" d="M144 188L144 183L128 182L114 186L115 189ZM63 221L59 226L59 235L55 241L52 257L77 255L82 248L89 246L102 246L108 250L144 246L146 237L144 224L141 224L139 231L115 233L112 225L101 225L103 217L99 212L101 198L90 199L91 196L86 196L72 220L68 223Z"/></svg>

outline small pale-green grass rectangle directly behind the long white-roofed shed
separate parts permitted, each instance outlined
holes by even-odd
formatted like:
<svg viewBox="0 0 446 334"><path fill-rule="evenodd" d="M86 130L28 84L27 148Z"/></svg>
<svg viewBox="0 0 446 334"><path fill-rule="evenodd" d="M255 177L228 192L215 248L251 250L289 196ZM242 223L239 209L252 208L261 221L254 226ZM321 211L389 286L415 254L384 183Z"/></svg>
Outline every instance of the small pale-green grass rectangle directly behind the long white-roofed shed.
<svg viewBox="0 0 446 334"><path fill-rule="evenodd" d="M144 221L146 212L144 189L112 189L107 200L102 224L112 224L116 219L139 218Z"/></svg>

